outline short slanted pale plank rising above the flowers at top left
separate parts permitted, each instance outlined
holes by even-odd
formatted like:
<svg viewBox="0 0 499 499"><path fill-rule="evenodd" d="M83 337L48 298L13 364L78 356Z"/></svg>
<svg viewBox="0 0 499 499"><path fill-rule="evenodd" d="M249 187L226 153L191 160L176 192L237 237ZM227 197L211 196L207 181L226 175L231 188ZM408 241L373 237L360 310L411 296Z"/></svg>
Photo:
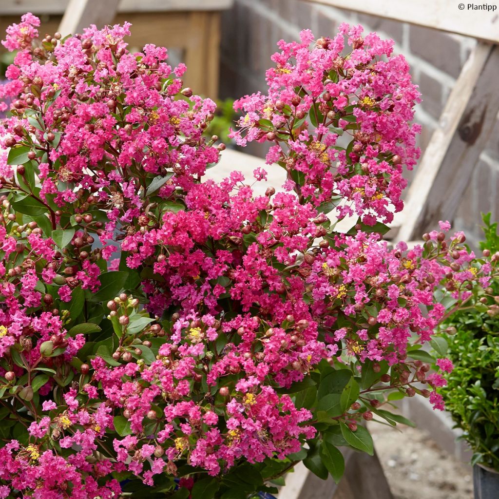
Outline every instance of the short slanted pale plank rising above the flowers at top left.
<svg viewBox="0 0 499 499"><path fill-rule="evenodd" d="M70 0L67 4L59 32L62 36L80 33L90 24L105 26L113 21L120 0Z"/></svg>

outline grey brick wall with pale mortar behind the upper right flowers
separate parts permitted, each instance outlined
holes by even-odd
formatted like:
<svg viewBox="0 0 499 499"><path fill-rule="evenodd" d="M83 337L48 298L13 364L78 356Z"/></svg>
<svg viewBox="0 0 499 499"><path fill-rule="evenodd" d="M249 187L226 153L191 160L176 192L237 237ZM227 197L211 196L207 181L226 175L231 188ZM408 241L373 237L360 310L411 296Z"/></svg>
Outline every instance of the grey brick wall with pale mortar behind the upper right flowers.
<svg viewBox="0 0 499 499"><path fill-rule="evenodd" d="M423 132L419 144L424 150L438 122L449 92L465 63L475 40L464 36L340 10L302 0L235 0L222 20L221 95L237 97L265 90L265 70L276 42L297 39L303 28L319 36L336 32L340 22L361 23L366 31L378 31L395 40L395 50L403 53L420 86L423 102L416 120ZM248 150L261 154L261 149ZM480 238L480 212L492 211L499 218L499 122L491 143L482 152L468 191L463 196L454 225L467 232L469 240Z"/></svg>

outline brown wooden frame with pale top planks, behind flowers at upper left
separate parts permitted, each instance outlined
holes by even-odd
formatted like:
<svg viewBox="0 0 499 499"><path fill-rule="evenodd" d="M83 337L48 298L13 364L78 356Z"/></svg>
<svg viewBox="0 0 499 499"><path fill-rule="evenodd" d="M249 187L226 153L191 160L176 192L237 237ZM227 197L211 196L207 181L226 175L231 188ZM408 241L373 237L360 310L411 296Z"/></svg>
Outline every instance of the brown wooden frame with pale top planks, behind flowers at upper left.
<svg viewBox="0 0 499 499"><path fill-rule="evenodd" d="M183 80L197 93L218 96L221 10L234 0L1 0L3 16L26 11L61 15L58 31L63 35L81 32L89 24L103 26L133 24L129 43L142 47L158 45L180 49L188 70ZM7 22L7 17L3 19ZM17 22L10 18L9 23ZM52 20L52 29L55 30ZM43 25L43 23L42 23ZM49 29L50 30L50 29Z"/></svg>

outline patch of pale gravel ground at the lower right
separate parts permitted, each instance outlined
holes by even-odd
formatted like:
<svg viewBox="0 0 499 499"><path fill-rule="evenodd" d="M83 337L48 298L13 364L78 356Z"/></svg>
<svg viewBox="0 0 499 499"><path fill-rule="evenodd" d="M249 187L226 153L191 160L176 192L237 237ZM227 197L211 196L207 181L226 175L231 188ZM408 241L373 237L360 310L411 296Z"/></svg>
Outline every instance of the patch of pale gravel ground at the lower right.
<svg viewBox="0 0 499 499"><path fill-rule="evenodd" d="M473 499L470 466L442 451L417 428L370 424L394 499Z"/></svg>

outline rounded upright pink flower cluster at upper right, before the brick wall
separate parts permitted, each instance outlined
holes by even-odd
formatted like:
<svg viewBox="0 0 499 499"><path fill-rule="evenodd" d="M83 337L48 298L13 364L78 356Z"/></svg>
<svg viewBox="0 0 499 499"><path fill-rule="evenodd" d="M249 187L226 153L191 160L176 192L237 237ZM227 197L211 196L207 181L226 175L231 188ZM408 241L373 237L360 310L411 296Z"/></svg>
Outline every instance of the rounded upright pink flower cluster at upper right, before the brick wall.
<svg viewBox="0 0 499 499"><path fill-rule="evenodd" d="M338 218L357 214L374 225L402 209L403 166L419 157L421 128L411 121L420 94L404 57L391 55L393 41L361 34L361 26L342 24L332 39L304 30L300 43L281 40L268 95L236 101L246 114L232 136L240 145L272 143L267 163L287 171L286 189L315 206L341 199Z"/></svg>

